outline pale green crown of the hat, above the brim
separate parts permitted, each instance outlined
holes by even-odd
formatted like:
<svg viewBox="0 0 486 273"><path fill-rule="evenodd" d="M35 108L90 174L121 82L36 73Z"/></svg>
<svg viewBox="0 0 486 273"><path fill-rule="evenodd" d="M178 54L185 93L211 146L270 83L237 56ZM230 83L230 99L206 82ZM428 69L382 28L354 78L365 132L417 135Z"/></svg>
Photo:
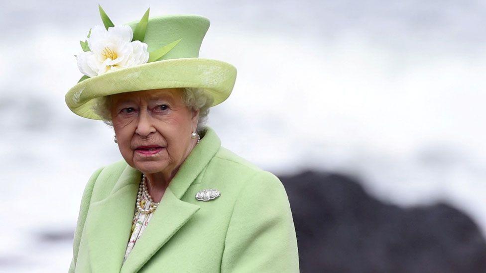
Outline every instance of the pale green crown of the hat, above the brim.
<svg viewBox="0 0 486 273"><path fill-rule="evenodd" d="M126 25L135 31L138 22L138 20L131 21L126 23ZM182 38L174 48L158 59L158 61L199 57L199 49L209 25L210 21L208 18L195 14L171 14L149 17L142 42L148 45L147 51L152 52Z"/></svg>

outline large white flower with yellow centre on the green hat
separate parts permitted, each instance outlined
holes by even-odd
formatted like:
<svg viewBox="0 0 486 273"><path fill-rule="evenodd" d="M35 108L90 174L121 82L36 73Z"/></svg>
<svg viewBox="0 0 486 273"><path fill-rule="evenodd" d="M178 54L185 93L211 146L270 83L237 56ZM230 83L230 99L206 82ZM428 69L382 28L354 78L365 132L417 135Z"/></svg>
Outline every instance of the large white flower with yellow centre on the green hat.
<svg viewBox="0 0 486 273"><path fill-rule="evenodd" d="M128 25L93 27L87 38L91 51L76 56L78 68L84 75L93 77L126 67L144 64L148 61L148 45L133 39L133 31Z"/></svg>

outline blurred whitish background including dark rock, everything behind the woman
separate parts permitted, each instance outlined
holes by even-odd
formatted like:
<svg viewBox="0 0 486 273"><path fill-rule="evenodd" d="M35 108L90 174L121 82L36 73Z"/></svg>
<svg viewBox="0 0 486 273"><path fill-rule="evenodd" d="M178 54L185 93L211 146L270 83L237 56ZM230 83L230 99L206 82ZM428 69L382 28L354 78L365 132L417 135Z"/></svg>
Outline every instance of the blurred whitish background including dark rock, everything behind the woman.
<svg viewBox="0 0 486 273"><path fill-rule="evenodd" d="M84 186L122 159L110 127L64 102L98 3L115 24L148 7L211 19L199 57L238 77L209 125L284 182L302 272L486 272L486 1L473 0L1 0L0 272L67 272ZM306 211L321 220L304 229Z"/></svg>

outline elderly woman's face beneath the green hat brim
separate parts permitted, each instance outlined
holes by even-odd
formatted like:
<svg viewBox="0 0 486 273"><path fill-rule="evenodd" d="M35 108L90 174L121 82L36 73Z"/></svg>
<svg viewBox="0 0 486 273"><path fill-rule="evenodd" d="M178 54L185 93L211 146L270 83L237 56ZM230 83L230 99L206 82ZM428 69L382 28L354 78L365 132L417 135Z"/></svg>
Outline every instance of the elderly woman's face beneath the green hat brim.
<svg viewBox="0 0 486 273"><path fill-rule="evenodd" d="M199 110L183 102L182 89L111 95L112 121L122 157L145 174L173 174L195 145Z"/></svg>

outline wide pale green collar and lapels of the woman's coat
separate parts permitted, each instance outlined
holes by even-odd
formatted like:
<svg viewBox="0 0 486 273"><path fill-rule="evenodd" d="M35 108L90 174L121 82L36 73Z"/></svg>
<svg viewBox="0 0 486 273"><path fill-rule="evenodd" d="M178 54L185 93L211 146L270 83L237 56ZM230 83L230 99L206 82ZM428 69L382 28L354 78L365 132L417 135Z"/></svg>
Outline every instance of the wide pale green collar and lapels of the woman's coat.
<svg viewBox="0 0 486 273"><path fill-rule="evenodd" d="M200 206L181 197L204 170L221 146L221 141L207 127L174 176L149 224L122 265L130 237L141 172L126 165L108 197L91 203L86 224L90 264L94 272L137 272L189 221Z"/></svg>

